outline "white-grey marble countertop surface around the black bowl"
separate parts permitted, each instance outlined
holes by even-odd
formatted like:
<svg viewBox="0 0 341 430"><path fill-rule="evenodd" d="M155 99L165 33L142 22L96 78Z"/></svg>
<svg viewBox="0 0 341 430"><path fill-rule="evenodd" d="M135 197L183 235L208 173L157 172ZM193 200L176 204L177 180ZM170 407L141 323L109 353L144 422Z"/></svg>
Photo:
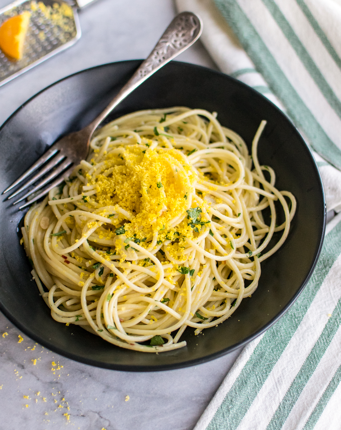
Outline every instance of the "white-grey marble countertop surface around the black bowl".
<svg viewBox="0 0 341 430"><path fill-rule="evenodd" d="M0 0L0 7L7 3ZM175 14L171 0L98 0L88 6L80 12L78 43L0 87L0 123L69 74L145 58ZM178 59L215 68L198 42ZM3 333L0 430L191 430L239 354L167 372L116 372L44 349L0 313Z"/></svg>

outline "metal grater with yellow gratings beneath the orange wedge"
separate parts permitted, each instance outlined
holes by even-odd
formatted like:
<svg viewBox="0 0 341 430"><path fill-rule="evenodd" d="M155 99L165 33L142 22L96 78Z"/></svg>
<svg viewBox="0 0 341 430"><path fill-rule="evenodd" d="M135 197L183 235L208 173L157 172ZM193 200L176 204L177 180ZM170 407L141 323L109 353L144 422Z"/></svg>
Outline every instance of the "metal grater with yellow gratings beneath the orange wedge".
<svg viewBox="0 0 341 430"><path fill-rule="evenodd" d="M18 0L0 9L0 25L14 15L31 12L23 58L13 60L0 50L0 86L73 45L81 37L77 9L93 1Z"/></svg>

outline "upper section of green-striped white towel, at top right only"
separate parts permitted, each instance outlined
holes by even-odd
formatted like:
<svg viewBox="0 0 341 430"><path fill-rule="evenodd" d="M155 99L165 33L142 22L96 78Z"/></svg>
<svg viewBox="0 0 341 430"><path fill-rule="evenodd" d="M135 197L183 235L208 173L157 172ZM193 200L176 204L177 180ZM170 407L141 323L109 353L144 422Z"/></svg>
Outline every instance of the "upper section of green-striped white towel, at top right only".
<svg viewBox="0 0 341 430"><path fill-rule="evenodd" d="M316 151L327 211L340 212L341 1L176 3L179 12L201 16L201 40L220 70L261 92L291 118Z"/></svg>

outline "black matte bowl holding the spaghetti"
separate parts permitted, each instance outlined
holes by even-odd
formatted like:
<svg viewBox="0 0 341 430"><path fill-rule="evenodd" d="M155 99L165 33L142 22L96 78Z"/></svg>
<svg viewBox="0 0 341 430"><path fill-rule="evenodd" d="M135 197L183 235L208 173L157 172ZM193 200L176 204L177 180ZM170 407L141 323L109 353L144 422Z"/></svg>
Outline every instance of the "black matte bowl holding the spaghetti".
<svg viewBox="0 0 341 430"><path fill-rule="evenodd" d="M0 190L25 172L60 136L81 129L109 103L140 61L105 64L71 75L31 98L0 129ZM267 98L225 74L172 61L143 83L112 113L170 106L217 111L218 120L251 146L261 120L268 121L259 143L261 164L276 172L276 187L291 191L298 209L289 236L261 265L257 291L231 318L194 335L187 346L160 353L115 347L78 326L52 319L31 280L31 266L19 244L24 213L0 203L0 309L26 335L71 359L108 369L176 369L220 357L251 341L293 304L315 267L325 231L325 199L319 172L301 135Z"/></svg>

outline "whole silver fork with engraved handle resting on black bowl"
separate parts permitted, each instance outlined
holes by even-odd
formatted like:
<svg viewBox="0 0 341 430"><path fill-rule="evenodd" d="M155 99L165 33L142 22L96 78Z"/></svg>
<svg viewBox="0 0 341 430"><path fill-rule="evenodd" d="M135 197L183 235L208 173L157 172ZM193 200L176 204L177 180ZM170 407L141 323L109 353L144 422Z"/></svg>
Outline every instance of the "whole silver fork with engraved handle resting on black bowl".
<svg viewBox="0 0 341 430"><path fill-rule="evenodd" d="M164 66L164 64L167 64L191 46L198 37L200 37L201 33L202 20L197 15L192 12L182 12L177 15L164 31L164 34L162 34L148 58L143 61L130 80L124 85L104 111L84 129L79 132L70 133L54 143L30 169L3 191L3 194L7 193L21 184L25 179L29 178L37 169L40 169L18 190L7 197L7 199L12 199L22 193L22 191L30 185L34 184L31 190L13 203L13 205L15 205L37 193L27 203L19 207L19 209L22 209L45 196L53 187L61 184L62 181L71 175L74 167L78 166L81 160L87 157L93 132L110 112L121 103L130 92ZM36 184L39 179L40 181ZM46 184L48 184L47 187L41 190Z"/></svg>

